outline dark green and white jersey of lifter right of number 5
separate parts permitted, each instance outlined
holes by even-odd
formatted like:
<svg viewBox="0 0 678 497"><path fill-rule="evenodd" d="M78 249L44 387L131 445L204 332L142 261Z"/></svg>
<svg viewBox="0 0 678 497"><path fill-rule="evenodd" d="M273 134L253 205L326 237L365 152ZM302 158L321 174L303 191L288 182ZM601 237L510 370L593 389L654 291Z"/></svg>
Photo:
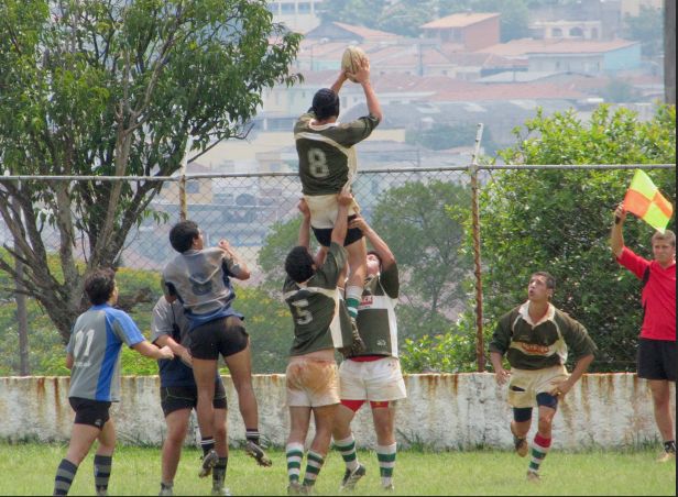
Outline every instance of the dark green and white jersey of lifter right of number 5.
<svg viewBox="0 0 678 497"><path fill-rule="evenodd" d="M358 308L358 331L365 343L360 355L390 355L397 357L397 322L395 305L400 289L397 265L370 278L362 290Z"/></svg>

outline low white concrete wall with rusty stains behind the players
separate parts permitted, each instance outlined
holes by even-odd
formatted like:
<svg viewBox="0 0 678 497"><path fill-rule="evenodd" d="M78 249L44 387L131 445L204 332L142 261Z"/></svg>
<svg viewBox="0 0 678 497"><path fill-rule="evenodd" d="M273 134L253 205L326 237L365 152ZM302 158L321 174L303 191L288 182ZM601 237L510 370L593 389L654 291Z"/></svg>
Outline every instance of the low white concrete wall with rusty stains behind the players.
<svg viewBox="0 0 678 497"><path fill-rule="evenodd" d="M225 380L230 440L238 443L244 438L244 427L230 377L226 376ZM0 440L67 440L73 422L68 382L67 377L1 377ZM260 431L273 444L283 445L288 429L285 377L256 375L253 382ZM423 443L436 449L512 445L506 390L495 385L493 375L408 375L405 383L409 397L398 405L396 421L398 442L403 445ZM112 410L119 440L162 443L165 429L158 386L157 376L122 379L122 402ZM675 402L675 389L671 394ZM374 445L369 409L359 412L354 431L359 445ZM633 374L584 375L561 402L555 419L556 448L613 448L655 438L658 433L647 384Z"/></svg>

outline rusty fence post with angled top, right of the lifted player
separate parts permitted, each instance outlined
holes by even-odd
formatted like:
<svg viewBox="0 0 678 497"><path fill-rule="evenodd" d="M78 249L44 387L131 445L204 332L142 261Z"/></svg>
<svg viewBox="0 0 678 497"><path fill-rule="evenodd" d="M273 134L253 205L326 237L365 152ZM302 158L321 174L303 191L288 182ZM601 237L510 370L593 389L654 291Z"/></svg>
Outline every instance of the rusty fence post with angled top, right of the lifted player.
<svg viewBox="0 0 678 497"><path fill-rule="evenodd" d="M475 275L475 360L478 372L485 371L485 352L482 328L482 268L480 259L480 205L478 200L478 155L480 153L480 141L482 140L483 124L478 124L475 133L475 147L473 157L469 166L471 175L471 222L473 225L473 264Z"/></svg>

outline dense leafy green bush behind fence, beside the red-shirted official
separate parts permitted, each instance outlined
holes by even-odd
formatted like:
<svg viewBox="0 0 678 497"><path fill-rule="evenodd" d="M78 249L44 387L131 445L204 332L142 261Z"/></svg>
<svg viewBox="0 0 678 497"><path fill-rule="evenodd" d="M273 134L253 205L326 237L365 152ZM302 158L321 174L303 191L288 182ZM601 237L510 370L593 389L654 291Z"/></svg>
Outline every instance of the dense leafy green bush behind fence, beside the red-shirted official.
<svg viewBox="0 0 678 497"><path fill-rule="evenodd" d="M515 131L516 145L500 156L511 164L675 164L675 122L674 106L657 108L648 122L608 106L599 107L588 123L573 111L551 117L539 111ZM649 174L675 199L676 170ZM557 280L554 303L582 322L600 349L593 369L634 367L639 284L616 265L609 248L612 211L632 175L622 169L493 175L481 195L488 333L502 313L525 300L529 275L548 270ZM649 227L630 217L630 246L650 256L650 235Z"/></svg>

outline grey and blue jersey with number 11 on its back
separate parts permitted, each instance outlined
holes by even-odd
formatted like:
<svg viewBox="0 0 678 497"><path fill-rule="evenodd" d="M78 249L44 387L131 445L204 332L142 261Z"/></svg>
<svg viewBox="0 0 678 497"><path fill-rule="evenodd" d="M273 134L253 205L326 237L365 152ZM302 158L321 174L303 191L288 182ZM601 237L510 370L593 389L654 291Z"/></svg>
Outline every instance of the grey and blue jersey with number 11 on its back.
<svg viewBox="0 0 678 497"><path fill-rule="evenodd" d="M132 318L108 303L81 313L66 349L74 360L68 397L119 401L122 344L133 346L144 340Z"/></svg>

